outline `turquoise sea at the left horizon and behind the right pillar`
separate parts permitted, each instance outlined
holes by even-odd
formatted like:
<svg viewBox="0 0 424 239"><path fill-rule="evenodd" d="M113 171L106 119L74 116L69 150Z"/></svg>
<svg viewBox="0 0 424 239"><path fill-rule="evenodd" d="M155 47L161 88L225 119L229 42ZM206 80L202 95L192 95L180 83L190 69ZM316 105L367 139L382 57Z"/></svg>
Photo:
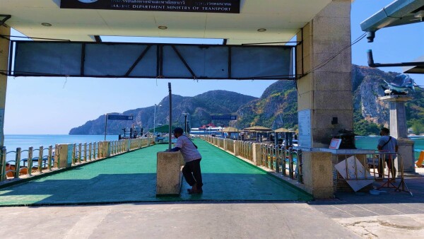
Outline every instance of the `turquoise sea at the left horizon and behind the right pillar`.
<svg viewBox="0 0 424 239"><path fill-rule="evenodd" d="M66 135L66 134L6 134L4 136L4 146L8 151L15 151L16 148L27 149L30 146L34 148L54 144L78 144L103 141L104 135ZM107 141L117 140L117 135L107 135ZM356 147L364 149L377 149L377 141L379 137L357 137ZM413 139L415 141L416 158L420 151L424 150L424 137Z"/></svg>

